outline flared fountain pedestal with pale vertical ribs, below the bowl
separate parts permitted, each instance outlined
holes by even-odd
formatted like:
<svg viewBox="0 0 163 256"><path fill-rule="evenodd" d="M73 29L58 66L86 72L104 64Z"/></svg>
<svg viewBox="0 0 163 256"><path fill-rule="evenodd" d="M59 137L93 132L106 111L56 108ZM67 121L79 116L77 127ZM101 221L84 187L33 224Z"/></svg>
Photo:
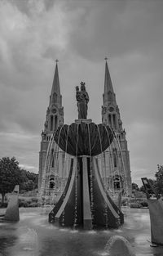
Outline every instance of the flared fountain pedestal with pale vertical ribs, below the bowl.
<svg viewBox="0 0 163 256"><path fill-rule="evenodd" d="M49 214L49 222L86 230L116 228L124 222L123 213L104 189L95 157L71 159L67 185Z"/></svg>

